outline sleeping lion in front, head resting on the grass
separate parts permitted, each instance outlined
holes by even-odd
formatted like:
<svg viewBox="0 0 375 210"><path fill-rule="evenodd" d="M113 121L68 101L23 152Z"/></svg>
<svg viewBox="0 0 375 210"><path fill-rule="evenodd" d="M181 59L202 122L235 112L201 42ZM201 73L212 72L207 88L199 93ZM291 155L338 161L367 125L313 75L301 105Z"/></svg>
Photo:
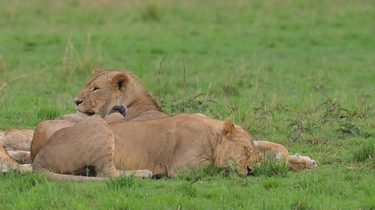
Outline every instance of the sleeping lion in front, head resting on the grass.
<svg viewBox="0 0 375 210"><path fill-rule="evenodd" d="M252 137L234 126L231 118L219 121L179 114L159 120L106 123L95 117L55 132L36 155L33 170L47 173L48 180L75 182L105 180L122 172L129 175L127 170L132 169L143 169L135 171L136 177L173 178L211 161L222 167L231 163L231 157L238 160L237 172L248 175L259 155ZM71 175L87 167L95 170L96 177Z"/></svg>

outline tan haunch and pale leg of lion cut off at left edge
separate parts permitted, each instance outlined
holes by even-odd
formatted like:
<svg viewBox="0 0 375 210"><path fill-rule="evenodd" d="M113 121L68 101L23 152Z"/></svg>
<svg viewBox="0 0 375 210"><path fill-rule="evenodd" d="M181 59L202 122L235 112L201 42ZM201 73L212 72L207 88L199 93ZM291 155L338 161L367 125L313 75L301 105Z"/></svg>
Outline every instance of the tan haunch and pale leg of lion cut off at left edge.
<svg viewBox="0 0 375 210"><path fill-rule="evenodd" d="M0 132L0 145L15 161L28 164L31 163L30 144L33 134L34 130L30 129L10 129Z"/></svg>

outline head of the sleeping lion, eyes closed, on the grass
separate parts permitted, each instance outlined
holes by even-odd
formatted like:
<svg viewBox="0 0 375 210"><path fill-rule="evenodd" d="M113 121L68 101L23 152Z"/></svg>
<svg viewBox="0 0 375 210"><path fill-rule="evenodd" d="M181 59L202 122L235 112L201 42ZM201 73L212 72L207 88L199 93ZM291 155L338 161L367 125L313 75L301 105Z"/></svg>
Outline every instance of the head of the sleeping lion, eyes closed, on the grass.
<svg viewBox="0 0 375 210"><path fill-rule="evenodd" d="M224 121L222 139L215 151L215 165L232 164L233 158L237 161L239 169L237 173L249 175L254 170L254 164L258 163L261 153L252 143L251 136L240 127L234 127L231 118Z"/></svg>

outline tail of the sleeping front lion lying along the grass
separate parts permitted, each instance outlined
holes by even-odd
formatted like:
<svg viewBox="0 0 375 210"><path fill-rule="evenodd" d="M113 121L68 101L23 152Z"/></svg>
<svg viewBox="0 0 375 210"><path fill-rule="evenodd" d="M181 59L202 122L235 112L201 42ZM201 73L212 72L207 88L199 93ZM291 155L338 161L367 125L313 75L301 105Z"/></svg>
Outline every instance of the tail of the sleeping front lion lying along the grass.
<svg viewBox="0 0 375 210"><path fill-rule="evenodd" d="M86 176L74 176L74 175L63 175L51 172L44 169L38 164L33 164L33 171L44 173L47 176L48 181L62 181L62 182L101 182L109 180L107 177L86 177Z"/></svg>

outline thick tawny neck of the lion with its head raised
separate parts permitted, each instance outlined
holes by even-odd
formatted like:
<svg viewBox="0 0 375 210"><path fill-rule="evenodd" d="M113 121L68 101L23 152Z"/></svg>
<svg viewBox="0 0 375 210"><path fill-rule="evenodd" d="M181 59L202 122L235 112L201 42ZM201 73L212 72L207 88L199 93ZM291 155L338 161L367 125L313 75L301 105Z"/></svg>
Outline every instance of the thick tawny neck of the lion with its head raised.
<svg viewBox="0 0 375 210"><path fill-rule="evenodd" d="M122 97L117 100L117 104L127 107L126 119L136 117L150 109L163 112L150 91L139 84L130 84Z"/></svg>

